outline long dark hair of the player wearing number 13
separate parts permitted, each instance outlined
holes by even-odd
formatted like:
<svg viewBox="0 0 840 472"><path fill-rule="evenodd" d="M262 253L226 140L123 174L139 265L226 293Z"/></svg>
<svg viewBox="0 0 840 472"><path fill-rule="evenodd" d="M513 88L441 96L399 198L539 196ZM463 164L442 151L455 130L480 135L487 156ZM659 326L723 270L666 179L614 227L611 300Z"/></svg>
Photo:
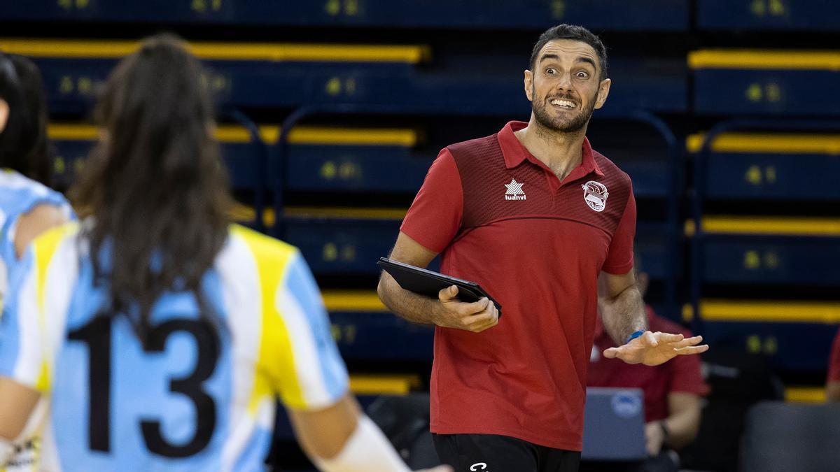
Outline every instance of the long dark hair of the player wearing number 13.
<svg viewBox="0 0 840 472"><path fill-rule="evenodd" d="M96 111L102 139L71 189L81 217L92 217L82 232L97 281L141 339L164 291L193 291L204 304L202 275L228 235L228 179L203 77L176 36L144 40L108 77Z"/></svg>

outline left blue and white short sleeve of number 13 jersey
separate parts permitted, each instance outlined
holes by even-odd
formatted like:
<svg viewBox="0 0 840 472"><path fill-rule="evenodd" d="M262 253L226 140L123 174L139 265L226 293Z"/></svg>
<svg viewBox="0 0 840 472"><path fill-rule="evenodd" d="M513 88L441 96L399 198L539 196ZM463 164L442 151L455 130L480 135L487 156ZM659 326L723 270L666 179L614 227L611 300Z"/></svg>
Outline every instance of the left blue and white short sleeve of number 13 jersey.
<svg viewBox="0 0 840 472"><path fill-rule="evenodd" d="M38 389L44 374L43 336L36 298L36 265L30 246L13 270L0 317L0 375Z"/></svg>

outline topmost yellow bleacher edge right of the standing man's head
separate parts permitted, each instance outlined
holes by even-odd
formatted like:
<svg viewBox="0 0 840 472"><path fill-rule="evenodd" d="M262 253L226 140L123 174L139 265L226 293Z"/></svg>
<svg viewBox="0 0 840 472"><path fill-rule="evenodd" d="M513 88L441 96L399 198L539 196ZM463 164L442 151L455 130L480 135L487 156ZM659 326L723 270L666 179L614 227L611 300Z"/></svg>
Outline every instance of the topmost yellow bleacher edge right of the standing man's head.
<svg viewBox="0 0 840 472"><path fill-rule="evenodd" d="M840 51L825 50L695 50L692 69L806 69L840 71Z"/></svg>

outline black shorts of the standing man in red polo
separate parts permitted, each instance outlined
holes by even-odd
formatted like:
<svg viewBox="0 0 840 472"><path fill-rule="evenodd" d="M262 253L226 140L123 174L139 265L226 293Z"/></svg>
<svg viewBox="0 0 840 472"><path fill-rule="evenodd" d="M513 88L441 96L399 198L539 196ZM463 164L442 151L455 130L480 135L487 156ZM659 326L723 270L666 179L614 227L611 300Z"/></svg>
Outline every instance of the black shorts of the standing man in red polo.
<svg viewBox="0 0 840 472"><path fill-rule="evenodd" d="M496 434L432 434L442 464L455 472L577 472L580 452Z"/></svg>

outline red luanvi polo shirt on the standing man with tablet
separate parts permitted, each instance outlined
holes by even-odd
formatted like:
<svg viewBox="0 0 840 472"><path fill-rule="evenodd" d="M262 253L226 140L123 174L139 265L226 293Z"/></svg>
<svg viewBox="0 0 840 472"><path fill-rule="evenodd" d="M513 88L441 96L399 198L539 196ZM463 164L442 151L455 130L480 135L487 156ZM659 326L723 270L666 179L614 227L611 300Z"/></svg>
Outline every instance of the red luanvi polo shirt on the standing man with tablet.
<svg viewBox="0 0 840 472"><path fill-rule="evenodd" d="M588 140L559 181L513 134L526 125L443 149L402 223L504 315L483 333L435 329L431 429L580 450L597 278L633 268L636 204Z"/></svg>

